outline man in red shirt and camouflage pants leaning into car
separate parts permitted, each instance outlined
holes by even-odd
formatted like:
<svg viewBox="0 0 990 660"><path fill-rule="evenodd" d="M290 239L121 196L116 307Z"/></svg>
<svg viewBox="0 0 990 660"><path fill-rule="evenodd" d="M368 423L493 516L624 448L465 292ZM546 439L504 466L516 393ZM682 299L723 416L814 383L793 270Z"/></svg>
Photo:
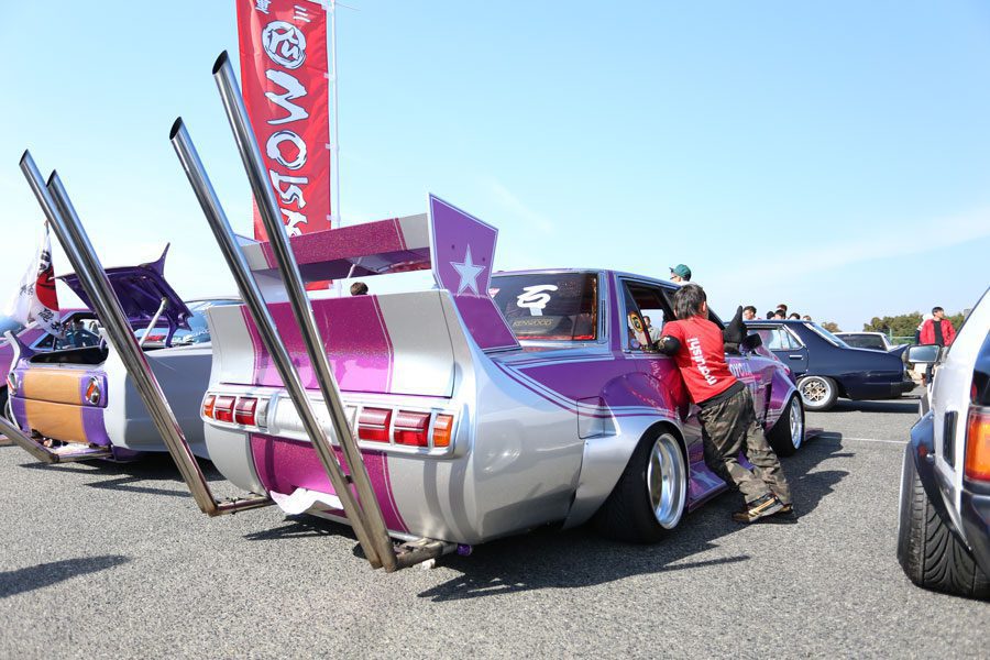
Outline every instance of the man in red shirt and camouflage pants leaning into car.
<svg viewBox="0 0 990 660"><path fill-rule="evenodd" d="M752 394L725 362L725 337L722 328L708 320L704 289L696 284L678 289L674 314L678 320L663 326L659 349L676 361L692 400L701 408L698 419L717 460L746 498L746 508L733 518L752 522L793 513L791 490L757 421ZM755 471L739 463L740 450Z"/></svg>

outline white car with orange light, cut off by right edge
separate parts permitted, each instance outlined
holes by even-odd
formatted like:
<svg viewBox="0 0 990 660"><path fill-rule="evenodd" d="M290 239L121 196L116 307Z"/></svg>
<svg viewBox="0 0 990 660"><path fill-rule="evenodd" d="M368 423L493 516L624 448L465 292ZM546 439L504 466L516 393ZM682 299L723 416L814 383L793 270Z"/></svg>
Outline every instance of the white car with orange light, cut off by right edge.
<svg viewBox="0 0 990 660"><path fill-rule="evenodd" d="M952 346L909 352L939 369L904 451L898 560L919 586L990 600L990 292Z"/></svg>

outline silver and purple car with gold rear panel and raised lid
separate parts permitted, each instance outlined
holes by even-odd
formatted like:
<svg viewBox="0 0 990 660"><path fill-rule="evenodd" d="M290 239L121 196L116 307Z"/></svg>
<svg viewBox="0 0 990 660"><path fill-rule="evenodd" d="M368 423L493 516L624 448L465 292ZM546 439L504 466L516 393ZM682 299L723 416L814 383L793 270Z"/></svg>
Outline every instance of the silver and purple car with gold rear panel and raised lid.
<svg viewBox="0 0 990 660"><path fill-rule="evenodd" d="M165 254L148 264L109 268L107 275L193 451L207 458L199 402L212 358L204 314L239 299L184 302L165 280L164 263ZM62 279L88 305L75 275ZM94 314L80 310L66 318L76 322L66 338L38 332L28 341L22 333L12 342L8 418L36 443L74 460L122 461L165 451L123 364L101 341Z"/></svg>

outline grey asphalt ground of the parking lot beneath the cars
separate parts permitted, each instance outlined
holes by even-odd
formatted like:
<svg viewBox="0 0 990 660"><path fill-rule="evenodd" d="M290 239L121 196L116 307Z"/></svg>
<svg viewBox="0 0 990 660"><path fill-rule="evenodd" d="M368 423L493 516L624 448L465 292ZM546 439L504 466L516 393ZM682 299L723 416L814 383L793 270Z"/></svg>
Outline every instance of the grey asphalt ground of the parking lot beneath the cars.
<svg viewBox="0 0 990 660"><path fill-rule="evenodd" d="M825 433L784 460L794 524L738 525L722 496L657 546L547 529L394 574L340 525L207 518L167 458L0 447L0 656L986 658L990 604L917 588L894 557L915 417L810 414Z"/></svg>

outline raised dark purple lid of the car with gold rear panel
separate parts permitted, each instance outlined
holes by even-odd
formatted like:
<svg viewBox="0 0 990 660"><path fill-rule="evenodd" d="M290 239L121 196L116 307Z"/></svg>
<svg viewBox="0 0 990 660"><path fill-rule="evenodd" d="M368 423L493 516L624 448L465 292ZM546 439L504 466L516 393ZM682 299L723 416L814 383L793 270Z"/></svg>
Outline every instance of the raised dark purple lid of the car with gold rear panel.
<svg viewBox="0 0 990 660"><path fill-rule="evenodd" d="M193 316L193 312L165 279L165 256L167 254L168 245L165 245L165 251L156 261L138 266L107 268L107 277L110 278L110 285L132 326L140 327L150 323L162 305L162 298L167 298L168 304L165 311L162 312L158 323L168 326L168 336L170 337L179 328L189 329L189 317ZM92 309L89 297L79 284L78 275L75 273L59 275L58 279L66 283L73 293Z"/></svg>

